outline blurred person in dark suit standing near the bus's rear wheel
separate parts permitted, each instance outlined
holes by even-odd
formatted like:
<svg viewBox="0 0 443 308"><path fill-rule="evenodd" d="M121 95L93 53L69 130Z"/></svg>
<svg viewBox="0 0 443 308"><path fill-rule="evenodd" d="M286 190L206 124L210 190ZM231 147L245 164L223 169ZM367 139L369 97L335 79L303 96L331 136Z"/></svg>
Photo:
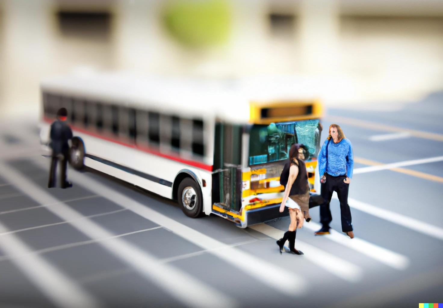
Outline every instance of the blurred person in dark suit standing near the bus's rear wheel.
<svg viewBox="0 0 443 308"><path fill-rule="evenodd" d="M72 184L66 181L66 169L68 166L69 144L72 139L72 131L65 120L67 117L66 108L60 108L57 112L57 120L51 124L51 171L49 173L48 188L55 187L57 163L62 160L62 173L60 183L62 188L72 187Z"/></svg>

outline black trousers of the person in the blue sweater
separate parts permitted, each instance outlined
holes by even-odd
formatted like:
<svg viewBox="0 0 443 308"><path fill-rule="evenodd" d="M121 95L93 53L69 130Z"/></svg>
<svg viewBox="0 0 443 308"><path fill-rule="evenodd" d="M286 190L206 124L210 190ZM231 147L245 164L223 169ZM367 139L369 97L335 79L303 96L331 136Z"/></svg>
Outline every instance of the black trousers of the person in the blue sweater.
<svg viewBox="0 0 443 308"><path fill-rule="evenodd" d="M320 223L323 226L329 226L332 221L331 211L329 209L329 203L333 192L337 192L338 200L340 201L340 212L342 214L342 231L353 231L351 210L348 204L348 192L349 184L343 182L346 179L346 175L340 175L333 177L326 173L326 183L322 184L322 197L325 203L320 205Z"/></svg>

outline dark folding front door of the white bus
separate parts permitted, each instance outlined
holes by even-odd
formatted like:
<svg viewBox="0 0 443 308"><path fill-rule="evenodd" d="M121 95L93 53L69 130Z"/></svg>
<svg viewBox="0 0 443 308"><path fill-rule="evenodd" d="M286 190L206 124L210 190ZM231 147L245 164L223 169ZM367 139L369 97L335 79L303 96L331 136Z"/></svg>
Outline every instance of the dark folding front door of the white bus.
<svg viewBox="0 0 443 308"><path fill-rule="evenodd" d="M212 204L225 210L241 209L242 125L217 123L214 142Z"/></svg>

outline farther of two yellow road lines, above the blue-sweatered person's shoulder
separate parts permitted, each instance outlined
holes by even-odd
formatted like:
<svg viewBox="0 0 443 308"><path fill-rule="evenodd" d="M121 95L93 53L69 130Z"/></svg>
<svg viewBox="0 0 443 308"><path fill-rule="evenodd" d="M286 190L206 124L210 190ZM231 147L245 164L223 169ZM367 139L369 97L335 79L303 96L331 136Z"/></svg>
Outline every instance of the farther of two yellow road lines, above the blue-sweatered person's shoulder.
<svg viewBox="0 0 443 308"><path fill-rule="evenodd" d="M424 139L430 139L430 140L436 140L436 141L443 141L443 134L435 134L435 133L428 133L427 131L416 131L413 129L407 129L407 128L400 128L390 125L385 125L381 123L375 123L360 119L351 119L346 118L342 116L326 116L327 119L332 120L334 123L340 125L340 123L349 124L352 126L357 127L364 127L364 128L370 128L376 131L397 131L397 132L408 132L409 134L413 135L414 137L418 138L424 138Z"/></svg>

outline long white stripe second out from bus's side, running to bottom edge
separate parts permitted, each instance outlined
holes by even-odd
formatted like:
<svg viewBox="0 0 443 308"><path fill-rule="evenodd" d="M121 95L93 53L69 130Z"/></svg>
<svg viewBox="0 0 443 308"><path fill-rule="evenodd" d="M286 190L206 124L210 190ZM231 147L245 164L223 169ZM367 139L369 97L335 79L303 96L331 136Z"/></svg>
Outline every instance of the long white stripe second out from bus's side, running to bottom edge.
<svg viewBox="0 0 443 308"><path fill-rule="evenodd" d="M69 220L73 227L91 239L101 240L115 236L92 220L85 219L80 213L63 204L6 164L0 163L0 174L17 189L40 204L59 203L58 206L47 209L63 220ZM109 252L135 267L166 293L189 307L237 307L237 303L229 296L203 284L179 269L163 264L151 254L121 238L108 239L100 241L100 243ZM185 285L193 287L184 288Z"/></svg>

